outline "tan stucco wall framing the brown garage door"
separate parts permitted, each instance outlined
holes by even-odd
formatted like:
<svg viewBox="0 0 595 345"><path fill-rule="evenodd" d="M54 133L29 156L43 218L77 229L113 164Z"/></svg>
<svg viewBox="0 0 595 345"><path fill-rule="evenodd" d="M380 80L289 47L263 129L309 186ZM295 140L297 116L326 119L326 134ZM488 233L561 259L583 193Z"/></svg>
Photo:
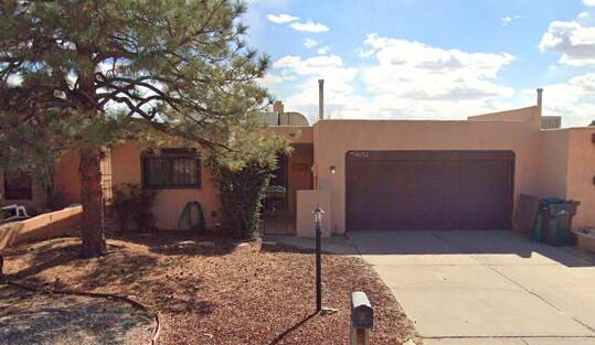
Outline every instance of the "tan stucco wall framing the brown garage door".
<svg viewBox="0 0 595 345"><path fill-rule="evenodd" d="M511 150L514 193L540 190L540 131L534 122L322 120L315 125L314 137L316 181L331 194L333 233L346 229L344 168L350 150ZM336 174L330 173L331 165Z"/></svg>

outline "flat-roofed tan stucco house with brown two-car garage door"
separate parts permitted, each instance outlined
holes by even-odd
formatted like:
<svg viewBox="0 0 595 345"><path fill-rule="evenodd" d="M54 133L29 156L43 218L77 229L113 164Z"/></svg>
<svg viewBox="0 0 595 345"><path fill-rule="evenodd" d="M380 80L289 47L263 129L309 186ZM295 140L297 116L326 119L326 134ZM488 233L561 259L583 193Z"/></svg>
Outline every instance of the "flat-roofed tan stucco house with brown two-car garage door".
<svg viewBox="0 0 595 345"><path fill-rule="evenodd" d="M577 200L574 226L595 225L595 128L543 129L538 95L535 106L467 120L321 118L314 126L277 103L264 117L269 130L299 136L294 153L280 158L273 184L281 193L265 203L264 231L311 236L316 205L326 211L327 236L510 228L519 194ZM59 169L70 202L78 200L76 166L72 153ZM159 188L153 211L161 229L177 228L189 201L202 204L208 227L217 223L216 190L195 153L172 148L155 155L128 142L111 148L103 171L108 197L120 183Z"/></svg>

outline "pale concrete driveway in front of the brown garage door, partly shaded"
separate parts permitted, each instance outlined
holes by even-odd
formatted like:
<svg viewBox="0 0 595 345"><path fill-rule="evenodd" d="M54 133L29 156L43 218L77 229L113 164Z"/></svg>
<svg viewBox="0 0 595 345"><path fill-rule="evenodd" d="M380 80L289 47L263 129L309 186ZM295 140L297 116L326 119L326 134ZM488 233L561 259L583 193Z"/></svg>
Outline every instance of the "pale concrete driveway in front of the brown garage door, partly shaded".
<svg viewBox="0 0 595 345"><path fill-rule="evenodd" d="M349 234L424 344L595 344L595 263L510 231Z"/></svg>

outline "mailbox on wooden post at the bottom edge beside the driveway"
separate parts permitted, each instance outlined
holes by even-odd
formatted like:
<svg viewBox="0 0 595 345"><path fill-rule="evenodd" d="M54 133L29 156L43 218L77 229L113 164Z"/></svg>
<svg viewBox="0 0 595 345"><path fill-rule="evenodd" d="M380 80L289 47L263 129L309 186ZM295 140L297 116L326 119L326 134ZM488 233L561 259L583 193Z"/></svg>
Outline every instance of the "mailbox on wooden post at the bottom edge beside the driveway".
<svg viewBox="0 0 595 345"><path fill-rule="evenodd" d="M374 310L364 292L351 293L351 345L370 345Z"/></svg>

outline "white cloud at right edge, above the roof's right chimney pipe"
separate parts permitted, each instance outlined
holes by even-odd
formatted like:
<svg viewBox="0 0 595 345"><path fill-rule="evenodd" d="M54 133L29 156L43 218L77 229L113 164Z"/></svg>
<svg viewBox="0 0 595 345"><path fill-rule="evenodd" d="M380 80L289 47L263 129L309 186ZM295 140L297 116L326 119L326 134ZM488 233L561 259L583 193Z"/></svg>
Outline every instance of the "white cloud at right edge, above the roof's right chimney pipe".
<svg viewBox="0 0 595 345"><path fill-rule="evenodd" d="M554 21L541 37L540 48L542 52L561 53L561 64L595 64L595 26L585 26L575 21Z"/></svg>

